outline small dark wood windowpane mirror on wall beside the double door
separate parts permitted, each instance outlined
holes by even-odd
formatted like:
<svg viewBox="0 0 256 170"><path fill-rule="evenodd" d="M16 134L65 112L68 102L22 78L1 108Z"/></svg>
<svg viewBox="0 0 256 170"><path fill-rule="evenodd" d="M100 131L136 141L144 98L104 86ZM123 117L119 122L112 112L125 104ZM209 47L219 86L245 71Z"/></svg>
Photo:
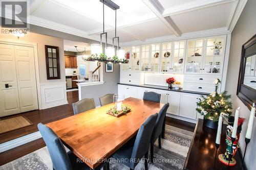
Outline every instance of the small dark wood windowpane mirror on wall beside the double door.
<svg viewBox="0 0 256 170"><path fill-rule="evenodd" d="M46 72L47 72L47 80L52 79L60 79L60 66L59 66L59 47L45 45L46 48ZM51 56L49 56L48 49L51 49ZM53 50L56 51L56 56L53 56ZM56 62L54 62L54 60ZM49 62L51 61L51 62ZM50 72L50 69L52 72ZM57 74L56 74L57 72Z"/></svg>

